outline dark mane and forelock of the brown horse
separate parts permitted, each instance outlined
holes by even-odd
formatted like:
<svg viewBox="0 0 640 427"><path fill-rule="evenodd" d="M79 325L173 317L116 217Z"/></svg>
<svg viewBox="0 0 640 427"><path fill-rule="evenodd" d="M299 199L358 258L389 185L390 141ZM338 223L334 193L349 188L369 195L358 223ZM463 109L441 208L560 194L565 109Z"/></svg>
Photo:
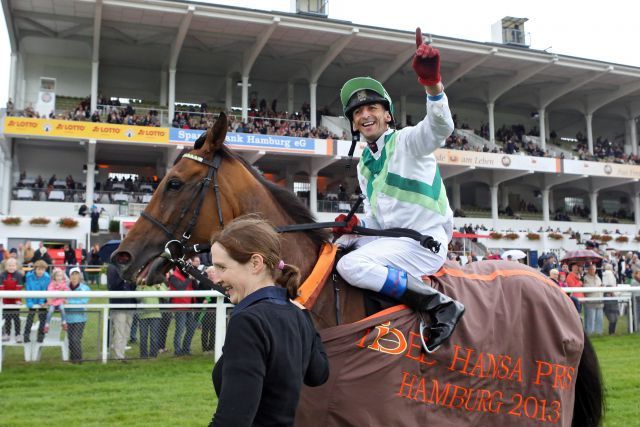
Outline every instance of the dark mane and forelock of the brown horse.
<svg viewBox="0 0 640 427"><path fill-rule="evenodd" d="M204 141L205 141L205 137L206 137L206 132L203 133L202 136L200 136L200 138L196 140L194 149L197 150L202 148L202 145L204 144ZM175 165L176 163L178 163L182 158L182 156L185 153L188 153L190 151L192 151L190 148L183 149L173 164ZM253 166L247 163L245 159L233 153L228 147L223 146L222 148L220 148L219 152L220 154L222 154L223 157L234 159L240 162L240 164L242 164L244 168L247 171L249 171L249 173L263 187L269 190L269 193L271 193L273 198L276 200L276 203L280 205L282 210L286 212L287 215L289 215L289 217L293 220L295 224L307 224L311 222L316 222L315 217L313 216L313 214L311 213L307 205L305 205L302 202L302 200L300 200L300 198L298 198L291 191L279 186L278 184L275 184L267 180ZM320 228L317 230L308 230L305 233L307 234L307 236L309 236L311 241L317 246L321 246L323 243L329 241L329 233L326 231L326 229Z"/></svg>

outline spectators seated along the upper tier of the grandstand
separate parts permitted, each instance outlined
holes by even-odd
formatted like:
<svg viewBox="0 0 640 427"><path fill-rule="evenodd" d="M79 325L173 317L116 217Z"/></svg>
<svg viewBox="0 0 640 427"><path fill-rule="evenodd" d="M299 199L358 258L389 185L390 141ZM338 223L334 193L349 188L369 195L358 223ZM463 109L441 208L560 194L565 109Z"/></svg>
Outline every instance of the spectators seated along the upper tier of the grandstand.
<svg viewBox="0 0 640 427"><path fill-rule="evenodd" d="M98 110L93 113L90 111L91 100L89 97L80 101L80 103L70 111L60 112L49 115L49 118L57 118L61 120L75 121L92 121L106 122L113 124L126 124L134 126L161 126L158 110L149 109L144 113L137 113L133 104L121 105L116 98L110 99L100 96ZM211 127L215 120L217 111L208 108L206 103L199 106L195 105L178 105L174 117L171 120L171 126L181 129L198 129L204 130ZM34 110L32 104L29 104L23 111L16 111L11 99L7 102L7 114L24 116L31 118L41 118ZM277 110L277 100L274 99L270 104L266 99L259 102L253 97L249 104L249 119L243 122L233 112L230 112L231 120L229 122L230 132L243 133L260 133L264 135L281 135L295 136L304 138L333 138L333 139L349 139L346 132L342 135L336 135L329 132L326 128L311 128L310 106L305 102L299 112L286 113ZM335 115L328 107L318 110L318 115ZM467 123L459 123L457 115L453 115L454 125L456 129L470 129ZM481 123L479 129L473 129L476 135L489 139L489 125ZM554 153L549 150L543 150L538 144L534 143L527 136L538 136L537 127L531 128L528 132L524 125L502 125L495 131L497 144L489 147L487 144L483 146L473 146L464 136L456 135L454 132L445 142L445 148L452 150L477 151L490 153L518 154L523 153L528 156L536 157L554 157ZM557 134L552 131L550 134L552 141L557 139ZM640 156L626 154L624 145L621 141L612 142L608 138L598 137L594 142L594 152L589 154L587 138L578 132L576 135L577 143L571 147L575 152L575 158L585 161L606 161L624 164L640 164ZM564 159L564 152L560 152L556 157Z"/></svg>

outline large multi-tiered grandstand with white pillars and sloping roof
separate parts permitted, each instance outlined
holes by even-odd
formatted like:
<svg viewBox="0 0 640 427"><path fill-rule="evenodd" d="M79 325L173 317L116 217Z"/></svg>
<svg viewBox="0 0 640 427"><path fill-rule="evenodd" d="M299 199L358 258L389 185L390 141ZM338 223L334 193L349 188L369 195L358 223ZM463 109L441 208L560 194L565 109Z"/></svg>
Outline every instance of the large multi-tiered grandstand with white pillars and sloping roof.
<svg viewBox="0 0 640 427"><path fill-rule="evenodd" d="M399 126L424 116L412 32L175 0L2 6L11 44L4 216L74 217L95 203L131 222L179 150L227 111L228 145L333 219L357 185L355 168L345 168L342 84L357 75L383 82ZM637 249L640 68L533 50L513 42L523 40L517 27L505 28L508 43L426 36L440 49L455 114L436 155L456 226L520 233L488 239L490 248L570 249L570 234L552 240L546 231L571 230ZM35 233L15 230L0 224L0 242ZM539 230L540 240L525 237Z"/></svg>

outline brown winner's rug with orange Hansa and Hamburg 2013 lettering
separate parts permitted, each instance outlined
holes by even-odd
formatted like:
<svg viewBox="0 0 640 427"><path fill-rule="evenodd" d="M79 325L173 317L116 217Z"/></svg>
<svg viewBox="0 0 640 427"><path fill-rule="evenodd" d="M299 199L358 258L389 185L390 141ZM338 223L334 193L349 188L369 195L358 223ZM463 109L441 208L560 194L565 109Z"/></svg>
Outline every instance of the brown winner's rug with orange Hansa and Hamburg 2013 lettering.
<svg viewBox="0 0 640 427"><path fill-rule="evenodd" d="M509 261L425 281L466 306L449 341L425 354L404 306L322 331L331 376L297 426L571 426L583 332L560 288Z"/></svg>

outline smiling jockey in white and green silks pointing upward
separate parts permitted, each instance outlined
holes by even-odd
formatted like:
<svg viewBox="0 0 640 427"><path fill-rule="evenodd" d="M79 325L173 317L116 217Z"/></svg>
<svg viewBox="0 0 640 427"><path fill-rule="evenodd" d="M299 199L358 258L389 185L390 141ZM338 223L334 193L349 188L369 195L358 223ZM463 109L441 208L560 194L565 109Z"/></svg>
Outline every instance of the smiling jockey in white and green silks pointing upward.
<svg viewBox="0 0 640 427"><path fill-rule="evenodd" d="M334 228L338 244L356 249L338 262L340 275L353 286L393 297L431 316L426 350L435 351L453 333L464 306L426 285L422 275L440 269L453 232L453 213L433 155L453 132L453 119L440 83L440 53L422 42L416 30L413 69L427 93L426 117L413 127L394 129L391 97L370 77L347 81L340 91L354 140L367 142L358 163L365 217ZM344 221L339 215L336 221ZM359 237L354 226L407 228L440 242L432 251L410 238Z"/></svg>

